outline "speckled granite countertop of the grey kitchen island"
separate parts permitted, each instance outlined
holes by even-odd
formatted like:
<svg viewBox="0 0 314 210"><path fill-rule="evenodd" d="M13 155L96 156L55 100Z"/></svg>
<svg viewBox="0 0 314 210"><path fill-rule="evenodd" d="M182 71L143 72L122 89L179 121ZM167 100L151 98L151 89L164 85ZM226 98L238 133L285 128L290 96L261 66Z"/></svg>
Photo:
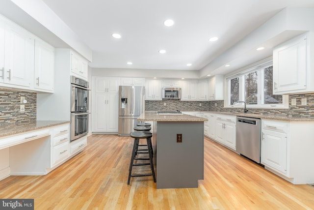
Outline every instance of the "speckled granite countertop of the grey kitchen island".
<svg viewBox="0 0 314 210"><path fill-rule="evenodd" d="M202 122L208 121L206 118L200 118L191 115L158 115L155 112L144 112L137 120L139 121L169 121L169 122Z"/></svg>

